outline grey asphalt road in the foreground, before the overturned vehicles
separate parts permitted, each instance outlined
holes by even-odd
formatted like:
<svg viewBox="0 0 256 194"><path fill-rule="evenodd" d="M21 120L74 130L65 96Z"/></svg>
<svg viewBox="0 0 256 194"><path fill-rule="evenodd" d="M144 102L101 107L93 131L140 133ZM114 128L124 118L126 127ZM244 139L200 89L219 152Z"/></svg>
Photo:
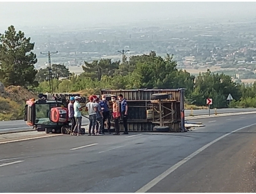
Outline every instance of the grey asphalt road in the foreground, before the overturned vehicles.
<svg viewBox="0 0 256 194"><path fill-rule="evenodd" d="M203 119L205 127L187 133L0 144L0 192L254 192L255 119Z"/></svg>

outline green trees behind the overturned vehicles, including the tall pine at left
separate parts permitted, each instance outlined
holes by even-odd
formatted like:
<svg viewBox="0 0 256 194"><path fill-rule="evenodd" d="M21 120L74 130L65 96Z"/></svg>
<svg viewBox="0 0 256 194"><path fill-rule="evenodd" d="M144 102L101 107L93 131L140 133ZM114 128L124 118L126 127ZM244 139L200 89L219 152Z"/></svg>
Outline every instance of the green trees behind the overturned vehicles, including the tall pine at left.
<svg viewBox="0 0 256 194"><path fill-rule="evenodd" d="M48 69L36 70L34 43L14 26L0 34L0 81L5 86L23 86L36 92L49 92ZM90 91L100 89L186 88L186 104L205 106L206 98L213 99L213 107L226 108L228 94L234 100L232 107L256 107L256 83L252 86L235 83L225 74L200 73L195 77L178 70L172 55L162 58L151 51L124 61L100 59L84 62L83 73L72 74L64 65L53 64L55 92ZM60 79L65 78L65 79Z"/></svg>

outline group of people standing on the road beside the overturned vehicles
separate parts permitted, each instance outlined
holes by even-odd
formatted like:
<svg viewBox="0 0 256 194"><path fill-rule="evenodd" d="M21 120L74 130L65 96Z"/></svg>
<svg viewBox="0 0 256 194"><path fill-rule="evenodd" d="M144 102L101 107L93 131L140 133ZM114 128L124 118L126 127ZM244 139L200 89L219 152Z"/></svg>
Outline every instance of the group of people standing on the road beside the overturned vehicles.
<svg viewBox="0 0 256 194"><path fill-rule="evenodd" d="M68 117L70 119L71 125L71 133L70 135L77 136L81 135L81 124L82 124L82 106L80 105L81 97L71 97L70 102L68 104ZM128 126L127 126L127 112L128 105L126 100L124 99L122 94L118 95L118 100L120 100L120 104L116 99L116 96L111 96L112 101L112 117L115 123L115 133L113 135L120 135L120 117L122 116L123 125L124 125L124 135L128 134ZM121 106L121 112L120 112ZM108 133L110 134L110 109L109 104L106 101L106 95L101 96L101 100L99 98L94 99L93 96L89 97L89 102L85 105L86 110L88 111L90 125L89 125L89 133L88 135L104 135L105 127L104 123L107 121Z"/></svg>

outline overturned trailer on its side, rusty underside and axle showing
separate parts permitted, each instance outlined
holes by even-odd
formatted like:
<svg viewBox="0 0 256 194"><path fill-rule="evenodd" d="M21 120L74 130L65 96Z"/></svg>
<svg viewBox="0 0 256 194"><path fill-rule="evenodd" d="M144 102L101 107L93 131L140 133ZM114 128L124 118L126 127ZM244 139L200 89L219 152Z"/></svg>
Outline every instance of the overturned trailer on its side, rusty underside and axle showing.
<svg viewBox="0 0 256 194"><path fill-rule="evenodd" d="M184 88L101 90L102 94L122 94L128 104L128 130L184 132ZM122 123L122 118L120 119ZM123 125L120 130L124 131Z"/></svg>

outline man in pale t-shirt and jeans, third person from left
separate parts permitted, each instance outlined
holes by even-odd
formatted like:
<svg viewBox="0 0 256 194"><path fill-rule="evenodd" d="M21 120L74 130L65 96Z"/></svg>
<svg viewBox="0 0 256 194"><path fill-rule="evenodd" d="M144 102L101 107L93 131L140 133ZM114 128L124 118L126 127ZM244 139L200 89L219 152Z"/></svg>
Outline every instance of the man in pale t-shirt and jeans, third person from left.
<svg viewBox="0 0 256 194"><path fill-rule="evenodd" d="M95 135L95 125L96 125L96 111L97 105L93 102L94 98L92 96L89 97L89 101L86 104L86 109L88 110L90 125L89 125L89 136ZM92 130L92 133L91 133Z"/></svg>

